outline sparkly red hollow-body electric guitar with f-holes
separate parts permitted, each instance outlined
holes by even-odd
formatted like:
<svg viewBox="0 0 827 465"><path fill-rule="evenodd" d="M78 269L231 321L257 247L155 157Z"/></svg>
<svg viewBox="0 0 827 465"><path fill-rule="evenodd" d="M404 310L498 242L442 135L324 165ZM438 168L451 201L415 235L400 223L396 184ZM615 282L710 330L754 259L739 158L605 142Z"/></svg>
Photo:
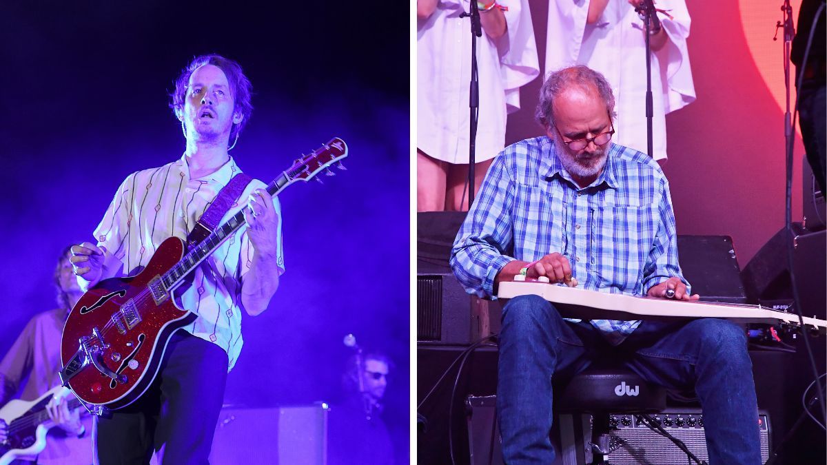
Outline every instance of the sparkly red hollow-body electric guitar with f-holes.
<svg viewBox="0 0 827 465"><path fill-rule="evenodd" d="M344 170L345 157L347 145L334 138L302 156L267 185L267 192L279 194L322 170L332 175L334 163ZM182 239L170 237L138 275L102 280L74 305L63 328L60 379L88 410L122 408L146 391L172 333L198 318L175 305L174 290L245 223L240 211L189 251Z"/></svg>

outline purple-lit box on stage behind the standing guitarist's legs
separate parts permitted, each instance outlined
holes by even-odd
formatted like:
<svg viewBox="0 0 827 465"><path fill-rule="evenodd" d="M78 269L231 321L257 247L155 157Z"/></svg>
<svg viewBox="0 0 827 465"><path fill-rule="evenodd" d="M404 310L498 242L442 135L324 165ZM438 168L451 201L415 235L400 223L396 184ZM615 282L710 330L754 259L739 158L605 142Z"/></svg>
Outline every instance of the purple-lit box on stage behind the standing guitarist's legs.
<svg viewBox="0 0 827 465"><path fill-rule="evenodd" d="M327 404L271 408L225 406L218 416L210 463L327 463Z"/></svg>

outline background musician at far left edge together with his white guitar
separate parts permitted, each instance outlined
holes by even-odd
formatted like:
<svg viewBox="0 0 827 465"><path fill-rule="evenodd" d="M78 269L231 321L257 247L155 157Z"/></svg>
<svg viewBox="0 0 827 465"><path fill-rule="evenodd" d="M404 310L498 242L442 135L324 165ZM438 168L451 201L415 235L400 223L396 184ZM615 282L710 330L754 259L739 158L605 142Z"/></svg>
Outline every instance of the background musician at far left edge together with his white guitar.
<svg viewBox="0 0 827 465"><path fill-rule="evenodd" d="M72 396L67 397L65 392L45 400L41 410L45 410L48 416L42 422L27 421L22 426L12 424L13 419L20 418L34 407L34 400L60 385L57 375L61 365L60 331L69 310L83 295L72 272L69 256L69 247L65 247L55 268L58 308L36 314L0 362L0 421L5 423L0 423L0 463L12 460L32 460L40 464L92 463L92 419L85 411L81 412L82 408L70 410L68 404ZM7 402L17 392L20 392L21 399L17 401L18 405L26 407L10 409L14 403L7 405ZM7 411L10 414L4 415ZM30 446L29 441L36 437L39 424L43 424L45 429L51 426L59 428L50 429L45 443ZM23 450L31 452L23 453Z"/></svg>

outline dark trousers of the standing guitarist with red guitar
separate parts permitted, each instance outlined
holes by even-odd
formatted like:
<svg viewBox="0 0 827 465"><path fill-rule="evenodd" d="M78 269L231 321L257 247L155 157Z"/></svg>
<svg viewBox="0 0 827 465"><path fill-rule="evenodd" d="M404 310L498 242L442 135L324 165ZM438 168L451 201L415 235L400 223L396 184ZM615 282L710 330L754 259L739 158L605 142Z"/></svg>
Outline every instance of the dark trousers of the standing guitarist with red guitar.
<svg viewBox="0 0 827 465"><path fill-rule="evenodd" d="M96 463L208 463L227 383L227 352L179 330L158 376L131 405L94 425Z"/></svg>

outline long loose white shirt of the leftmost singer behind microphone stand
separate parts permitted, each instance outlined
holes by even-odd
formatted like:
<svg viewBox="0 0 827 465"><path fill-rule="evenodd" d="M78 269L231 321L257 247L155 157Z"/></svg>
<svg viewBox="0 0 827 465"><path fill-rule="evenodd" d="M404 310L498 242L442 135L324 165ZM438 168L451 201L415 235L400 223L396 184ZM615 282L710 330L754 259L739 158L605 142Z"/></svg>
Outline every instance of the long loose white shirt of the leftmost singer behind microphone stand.
<svg viewBox="0 0 827 465"><path fill-rule="evenodd" d="M519 88L540 72L526 0L502 0L508 31L476 41L480 116L476 161L494 158L505 144L507 113L519 110ZM470 140L471 18L467 0L440 0L417 21L417 147L449 163L468 163ZM480 15L489 13L480 12Z"/></svg>

